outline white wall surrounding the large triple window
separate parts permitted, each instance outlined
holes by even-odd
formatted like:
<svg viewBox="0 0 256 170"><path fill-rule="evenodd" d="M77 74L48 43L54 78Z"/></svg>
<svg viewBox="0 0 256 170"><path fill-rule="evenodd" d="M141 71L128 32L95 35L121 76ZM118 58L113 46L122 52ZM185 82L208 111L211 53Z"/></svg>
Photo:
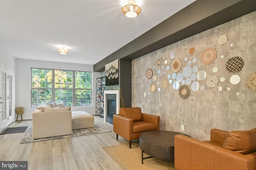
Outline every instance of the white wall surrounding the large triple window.
<svg viewBox="0 0 256 170"><path fill-rule="evenodd" d="M93 65L85 64L70 64L70 63L57 63L48 61L35 61L16 59L16 106L25 107L23 119L32 119L34 109L31 108L31 91L30 91L30 70L34 68L54 68L66 70L79 70L79 71L93 71ZM92 106L86 107L72 107L71 111L86 111L91 115L95 115L95 84L96 77L100 76L101 72L93 72L92 74ZM20 117L18 117L19 119Z"/></svg>

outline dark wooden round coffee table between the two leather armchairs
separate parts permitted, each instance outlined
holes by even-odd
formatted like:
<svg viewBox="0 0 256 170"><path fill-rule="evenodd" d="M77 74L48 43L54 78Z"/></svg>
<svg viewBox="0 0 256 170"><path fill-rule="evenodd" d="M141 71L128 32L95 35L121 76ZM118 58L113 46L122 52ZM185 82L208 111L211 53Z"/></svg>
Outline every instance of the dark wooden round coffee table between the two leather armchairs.
<svg viewBox="0 0 256 170"><path fill-rule="evenodd" d="M173 131L148 131L140 135L140 150L142 164L144 159L157 157L174 159L174 135L186 135ZM189 135L186 135L190 137ZM143 153L150 156L144 158Z"/></svg>

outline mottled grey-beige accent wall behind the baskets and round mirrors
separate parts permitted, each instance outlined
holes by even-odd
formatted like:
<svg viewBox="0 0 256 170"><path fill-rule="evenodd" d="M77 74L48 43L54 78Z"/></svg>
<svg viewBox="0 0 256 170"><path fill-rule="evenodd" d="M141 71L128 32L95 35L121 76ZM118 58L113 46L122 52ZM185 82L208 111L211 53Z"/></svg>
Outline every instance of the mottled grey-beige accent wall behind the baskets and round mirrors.
<svg viewBox="0 0 256 170"><path fill-rule="evenodd" d="M236 11L234 11L235 13ZM218 45L218 38L226 34L228 41L224 45ZM230 44L233 43L233 47ZM194 47L195 52L189 53ZM202 62L202 53L209 47L217 51L216 60L212 64ZM188 65L198 65L199 70L205 70L206 79L209 76L218 78L217 86L210 88L204 80L194 80L204 86L191 93L187 99L180 98L178 90L172 84L164 90L160 86L163 78L172 75L172 61L170 54L174 52L175 58L182 63L181 70ZM224 57L221 58L221 55ZM162 58L162 67L156 66L158 57ZM238 73L230 73L226 70L226 62L231 57L241 57L244 62L242 70ZM185 61L185 58L188 60ZM196 62L192 60L196 58ZM167 62L166 64L164 62ZM235 20L208 29L149 54L143 55L132 61L132 107L141 107L142 112L160 116L160 130L177 131L186 133L196 139L209 140L210 129L217 128L226 131L246 130L256 127L256 93L246 88L246 78L256 72L256 12L252 12ZM212 68L217 67L218 72ZM156 82L153 78L146 77L146 71L151 68L153 76L157 76ZM160 70L160 73L158 73ZM234 74L240 76L240 82L236 85L230 83L230 77ZM224 77L224 82L220 78ZM185 78L184 78L185 79ZM255 83L255 82L254 82ZM156 84L156 92L151 92L150 86ZM180 86L182 83L180 82ZM218 87L222 91L218 91ZM160 91L158 91L160 88ZM230 90L228 90L230 88ZM237 92L240 95L236 95ZM146 93L146 97L144 97ZM184 131L180 130L184 125Z"/></svg>

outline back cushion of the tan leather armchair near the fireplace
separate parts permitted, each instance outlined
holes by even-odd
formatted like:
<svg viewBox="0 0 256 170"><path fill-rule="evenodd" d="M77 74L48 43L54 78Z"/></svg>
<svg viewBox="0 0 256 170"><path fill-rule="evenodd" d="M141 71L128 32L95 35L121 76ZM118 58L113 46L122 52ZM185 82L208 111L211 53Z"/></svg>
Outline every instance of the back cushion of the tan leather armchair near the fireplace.
<svg viewBox="0 0 256 170"><path fill-rule="evenodd" d="M119 114L133 119L133 121L142 121L142 113L140 107L122 107Z"/></svg>

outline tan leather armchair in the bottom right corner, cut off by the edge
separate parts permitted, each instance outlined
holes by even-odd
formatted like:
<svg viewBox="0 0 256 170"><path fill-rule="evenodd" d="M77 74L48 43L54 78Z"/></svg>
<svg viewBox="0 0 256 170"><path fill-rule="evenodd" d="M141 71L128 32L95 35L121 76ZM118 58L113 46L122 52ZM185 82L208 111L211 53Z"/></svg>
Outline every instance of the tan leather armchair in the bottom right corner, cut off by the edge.
<svg viewBox="0 0 256 170"><path fill-rule="evenodd" d="M176 170L256 170L256 128L211 129L210 141L174 136Z"/></svg>

